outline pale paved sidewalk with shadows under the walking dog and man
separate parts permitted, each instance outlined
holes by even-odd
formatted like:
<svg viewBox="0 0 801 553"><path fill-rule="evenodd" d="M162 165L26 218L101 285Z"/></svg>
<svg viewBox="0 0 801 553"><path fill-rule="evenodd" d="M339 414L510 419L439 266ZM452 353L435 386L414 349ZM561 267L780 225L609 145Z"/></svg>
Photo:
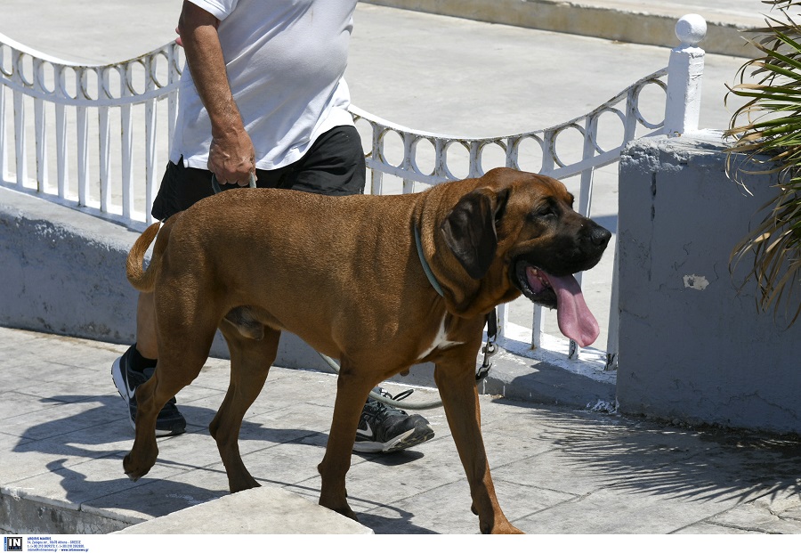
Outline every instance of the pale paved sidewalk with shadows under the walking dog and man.
<svg viewBox="0 0 801 553"><path fill-rule="evenodd" d="M124 349L0 328L0 527L107 533L228 495L206 430L228 386L227 362L208 362L179 394L189 432L160 439L156 467L133 483L122 472L133 431L110 378ZM271 371L240 438L263 486L317 500L335 389L332 375ZM433 394L422 389L413 398ZM798 441L487 395L481 410L498 498L527 533L801 534ZM432 441L353 456L352 508L375 533L476 533L443 412L425 416ZM235 523L240 512L219 508L217 524Z"/></svg>

